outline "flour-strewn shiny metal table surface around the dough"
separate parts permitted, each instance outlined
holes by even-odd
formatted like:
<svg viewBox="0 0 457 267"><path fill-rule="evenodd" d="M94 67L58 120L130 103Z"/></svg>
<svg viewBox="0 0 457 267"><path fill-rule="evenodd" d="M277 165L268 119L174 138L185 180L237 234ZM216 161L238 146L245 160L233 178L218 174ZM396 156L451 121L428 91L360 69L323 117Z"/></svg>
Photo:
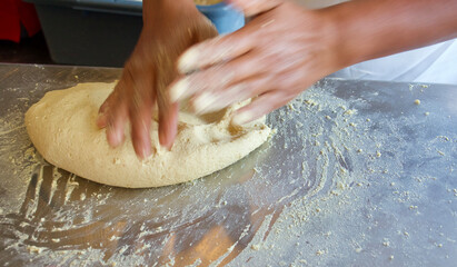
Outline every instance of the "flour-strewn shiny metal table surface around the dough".
<svg viewBox="0 0 457 267"><path fill-rule="evenodd" d="M113 188L46 164L28 107L120 71L0 65L1 265L457 263L456 86L324 79L268 116L277 132L247 158L177 186Z"/></svg>

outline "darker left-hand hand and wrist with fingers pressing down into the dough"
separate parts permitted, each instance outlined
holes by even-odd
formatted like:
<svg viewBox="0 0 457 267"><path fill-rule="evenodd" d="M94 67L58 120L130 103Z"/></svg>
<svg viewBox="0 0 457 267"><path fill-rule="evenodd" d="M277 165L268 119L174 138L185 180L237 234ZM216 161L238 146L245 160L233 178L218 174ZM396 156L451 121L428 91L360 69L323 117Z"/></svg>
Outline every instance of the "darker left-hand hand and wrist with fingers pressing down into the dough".
<svg viewBox="0 0 457 267"><path fill-rule="evenodd" d="M110 146L122 144L126 123L130 121L133 148L140 158L151 154L149 132L155 108L159 111L160 144L171 149L177 134L178 103L170 102L166 89L177 77L178 56L188 47L217 36L192 1L181 2L188 6L167 0L145 1L145 26L138 43L115 91L100 107L97 125L107 128Z"/></svg>

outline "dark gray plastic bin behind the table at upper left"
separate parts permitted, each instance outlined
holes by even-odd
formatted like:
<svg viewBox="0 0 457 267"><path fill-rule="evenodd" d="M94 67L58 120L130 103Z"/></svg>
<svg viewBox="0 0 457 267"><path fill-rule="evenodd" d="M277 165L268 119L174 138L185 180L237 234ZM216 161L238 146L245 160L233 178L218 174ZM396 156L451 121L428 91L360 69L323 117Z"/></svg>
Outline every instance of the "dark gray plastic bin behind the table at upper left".
<svg viewBox="0 0 457 267"><path fill-rule="evenodd" d="M34 3L57 63L122 67L142 27L141 1L26 1Z"/></svg>

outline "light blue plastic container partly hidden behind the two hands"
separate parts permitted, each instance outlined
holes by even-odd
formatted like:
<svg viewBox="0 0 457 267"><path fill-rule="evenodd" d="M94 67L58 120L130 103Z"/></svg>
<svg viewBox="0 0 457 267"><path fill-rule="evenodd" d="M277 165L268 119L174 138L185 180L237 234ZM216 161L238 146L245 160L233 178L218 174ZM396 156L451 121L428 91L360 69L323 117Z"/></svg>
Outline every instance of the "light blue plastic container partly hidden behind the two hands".
<svg viewBox="0 0 457 267"><path fill-rule="evenodd" d="M234 32L245 26L245 16L225 2L199 6L197 9L216 26L219 34Z"/></svg>

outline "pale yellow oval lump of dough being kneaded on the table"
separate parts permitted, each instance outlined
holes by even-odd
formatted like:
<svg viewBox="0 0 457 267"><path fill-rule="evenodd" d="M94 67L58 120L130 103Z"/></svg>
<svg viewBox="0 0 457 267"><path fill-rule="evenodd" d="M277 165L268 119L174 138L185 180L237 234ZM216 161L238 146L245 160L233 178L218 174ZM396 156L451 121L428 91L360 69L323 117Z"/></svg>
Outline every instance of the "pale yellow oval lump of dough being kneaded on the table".
<svg viewBox="0 0 457 267"><path fill-rule="evenodd" d="M130 188L189 181L222 169L265 142L265 118L242 127L230 125L239 107L197 117L180 112L171 151L159 146L158 123L151 126L152 155L139 160L126 129L126 141L111 148L96 125L98 109L115 83L80 83L56 90L26 113L27 131L50 164L92 181Z"/></svg>

